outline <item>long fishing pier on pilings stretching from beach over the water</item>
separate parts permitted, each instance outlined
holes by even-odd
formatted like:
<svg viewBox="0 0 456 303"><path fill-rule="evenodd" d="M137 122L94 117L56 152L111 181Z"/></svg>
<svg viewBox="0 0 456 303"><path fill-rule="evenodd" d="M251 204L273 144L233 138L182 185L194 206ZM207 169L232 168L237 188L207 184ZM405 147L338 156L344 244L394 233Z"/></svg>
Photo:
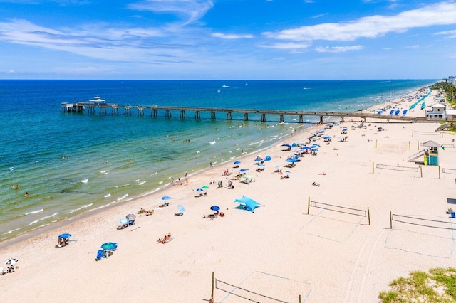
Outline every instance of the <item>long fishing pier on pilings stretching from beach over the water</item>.
<svg viewBox="0 0 456 303"><path fill-rule="evenodd" d="M427 122L429 121L425 117L408 117L404 115L388 115L388 114L375 114L373 112L358 111L358 112L311 112L311 111L299 111L299 110L248 110L248 109L237 109L237 108L219 108L219 107L185 107L185 106L162 106L162 105L118 105L115 103L106 103L100 97L95 97L89 102L76 102L61 104L61 112L88 112L89 114L95 114L98 112L100 115L119 115L119 109L123 112L123 115L131 116L136 114L137 116L145 116L147 112L150 112L150 117L158 117L158 112L164 112L165 118L179 117L180 119L186 119L187 113L193 113L195 119L201 119L201 113L206 112L208 119L215 120L217 113L224 113L227 121L233 119L233 115L239 116L239 119L249 121L249 115L259 116L261 122L266 122L267 116L279 116L279 122L295 122L298 121L294 117L299 117L299 123L304 123L304 117L316 116L319 117L319 122L323 124L323 117L328 117L333 120L334 117L340 117L341 121L344 121L346 117L356 117L363 119L366 122L367 119L384 119L394 120L397 122ZM207 115L206 114L206 115ZM148 113L147 113L148 115ZM291 117L289 121L285 121L285 117Z"/></svg>

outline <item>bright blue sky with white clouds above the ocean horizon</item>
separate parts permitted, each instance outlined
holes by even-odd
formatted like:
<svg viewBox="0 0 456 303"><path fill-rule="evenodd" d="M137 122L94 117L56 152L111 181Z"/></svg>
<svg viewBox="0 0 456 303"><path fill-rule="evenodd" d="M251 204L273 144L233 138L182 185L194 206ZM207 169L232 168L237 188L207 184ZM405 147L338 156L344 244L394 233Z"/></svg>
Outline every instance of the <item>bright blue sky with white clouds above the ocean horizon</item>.
<svg viewBox="0 0 456 303"><path fill-rule="evenodd" d="M1 79L440 79L455 1L0 0Z"/></svg>

